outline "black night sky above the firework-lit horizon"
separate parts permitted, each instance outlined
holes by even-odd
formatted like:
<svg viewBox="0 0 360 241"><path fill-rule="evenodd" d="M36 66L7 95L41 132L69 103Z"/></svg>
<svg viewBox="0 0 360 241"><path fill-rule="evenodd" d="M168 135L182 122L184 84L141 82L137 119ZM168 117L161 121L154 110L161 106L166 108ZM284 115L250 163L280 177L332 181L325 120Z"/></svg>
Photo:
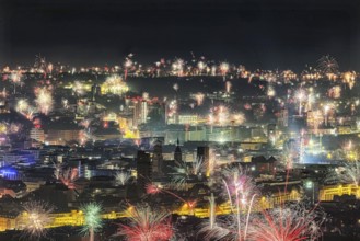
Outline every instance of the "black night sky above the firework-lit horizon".
<svg viewBox="0 0 360 241"><path fill-rule="evenodd" d="M315 2L315 3L314 3ZM0 0L0 66L161 57L302 69L325 54L360 71L357 0Z"/></svg>

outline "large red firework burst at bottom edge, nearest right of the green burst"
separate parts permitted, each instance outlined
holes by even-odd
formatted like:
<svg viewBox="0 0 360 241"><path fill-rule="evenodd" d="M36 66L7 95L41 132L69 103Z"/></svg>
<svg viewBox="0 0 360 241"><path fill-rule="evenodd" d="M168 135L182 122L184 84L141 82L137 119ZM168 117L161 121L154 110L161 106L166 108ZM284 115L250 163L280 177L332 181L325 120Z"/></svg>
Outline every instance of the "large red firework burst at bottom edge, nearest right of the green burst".
<svg viewBox="0 0 360 241"><path fill-rule="evenodd" d="M129 225L120 225L119 236L129 241L166 241L174 234L167 211L154 210L147 205L130 207L126 211Z"/></svg>

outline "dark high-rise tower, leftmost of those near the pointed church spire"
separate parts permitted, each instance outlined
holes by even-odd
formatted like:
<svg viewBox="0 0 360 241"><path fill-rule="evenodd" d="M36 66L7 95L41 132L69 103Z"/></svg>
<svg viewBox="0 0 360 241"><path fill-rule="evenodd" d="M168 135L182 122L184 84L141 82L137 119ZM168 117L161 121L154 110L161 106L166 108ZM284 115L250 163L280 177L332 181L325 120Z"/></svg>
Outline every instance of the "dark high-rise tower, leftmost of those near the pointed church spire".
<svg viewBox="0 0 360 241"><path fill-rule="evenodd" d="M139 195L146 194L146 185L152 179L150 153L139 150L137 154L137 186Z"/></svg>

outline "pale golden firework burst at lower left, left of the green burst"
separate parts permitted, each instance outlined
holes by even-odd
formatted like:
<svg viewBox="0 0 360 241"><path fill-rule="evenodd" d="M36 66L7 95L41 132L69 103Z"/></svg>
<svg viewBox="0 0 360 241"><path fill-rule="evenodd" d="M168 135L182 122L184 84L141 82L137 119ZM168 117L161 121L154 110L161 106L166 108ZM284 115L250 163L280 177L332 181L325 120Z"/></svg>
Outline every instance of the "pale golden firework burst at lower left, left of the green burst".
<svg viewBox="0 0 360 241"><path fill-rule="evenodd" d="M31 200L23 205L24 214L24 236L39 239L46 236L46 227L53 221L49 214L53 208L43 202Z"/></svg>

